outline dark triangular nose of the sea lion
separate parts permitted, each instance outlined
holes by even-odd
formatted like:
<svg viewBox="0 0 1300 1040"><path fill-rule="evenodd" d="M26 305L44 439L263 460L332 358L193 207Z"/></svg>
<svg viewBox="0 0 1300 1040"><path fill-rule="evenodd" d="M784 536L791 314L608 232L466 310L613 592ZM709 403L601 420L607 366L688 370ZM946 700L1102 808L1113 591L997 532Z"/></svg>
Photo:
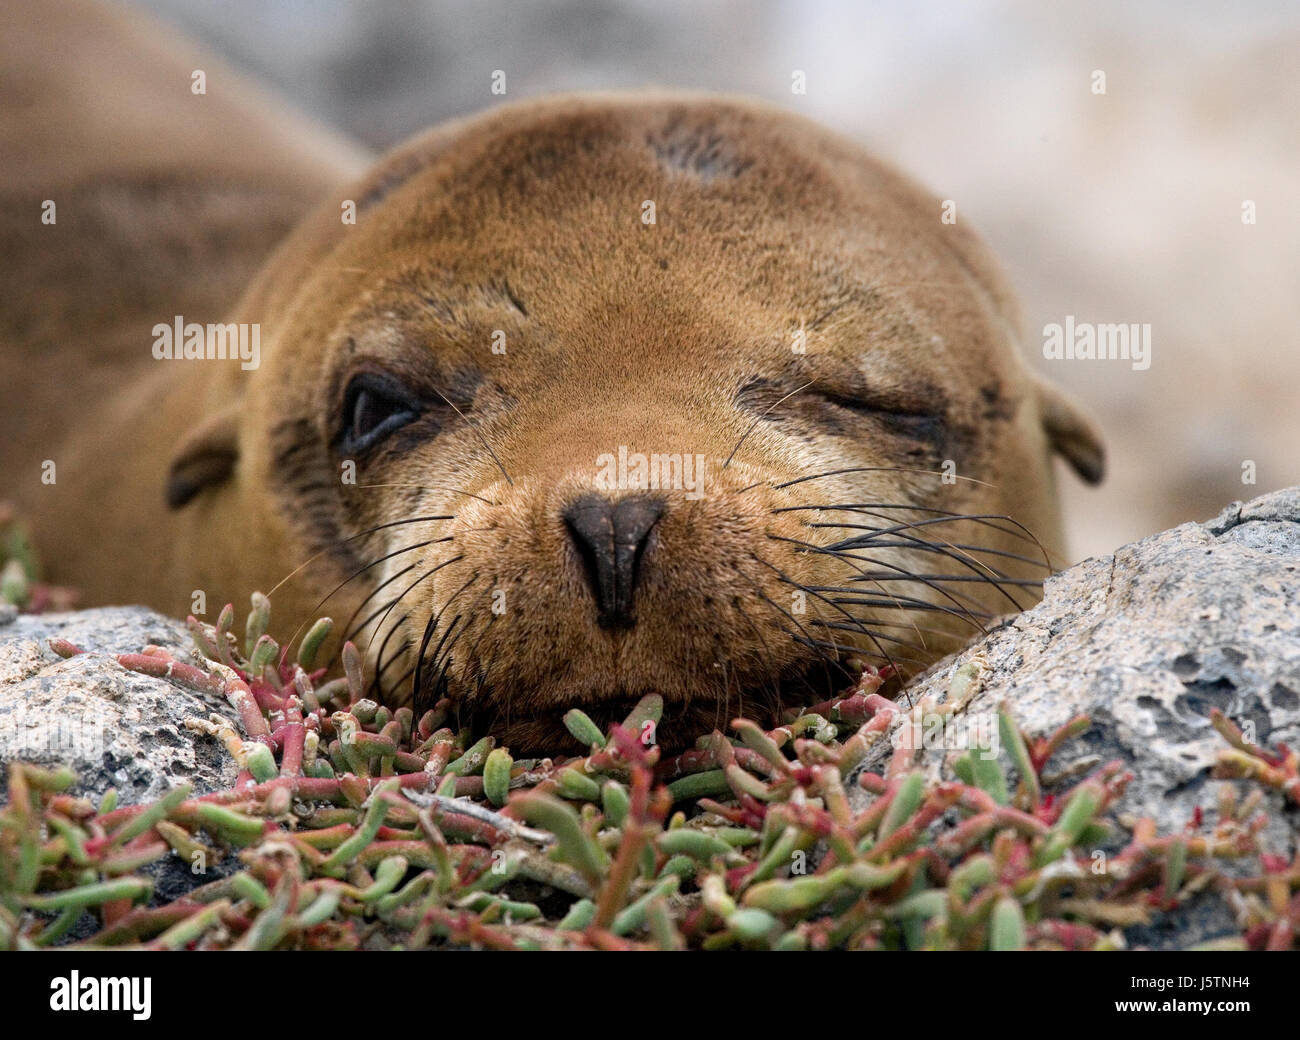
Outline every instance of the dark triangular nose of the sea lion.
<svg viewBox="0 0 1300 1040"><path fill-rule="evenodd" d="M612 502L590 494L575 499L560 514L586 568L602 628L634 624L632 594L641 556L664 510L656 495L633 494Z"/></svg>

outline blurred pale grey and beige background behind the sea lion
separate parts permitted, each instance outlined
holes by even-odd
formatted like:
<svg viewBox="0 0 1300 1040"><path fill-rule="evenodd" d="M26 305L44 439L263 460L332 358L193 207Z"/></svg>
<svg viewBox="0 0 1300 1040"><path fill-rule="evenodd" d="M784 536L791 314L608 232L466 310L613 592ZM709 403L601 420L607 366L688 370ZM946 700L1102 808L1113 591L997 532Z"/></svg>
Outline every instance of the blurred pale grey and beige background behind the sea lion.
<svg viewBox="0 0 1300 1040"><path fill-rule="evenodd" d="M1076 556L1300 484L1294 0L138 6L376 148L499 103L494 69L511 100L659 84L802 110L956 200L1002 257L1027 352L1110 447L1101 489L1062 473ZM1149 322L1150 369L1044 361L1066 315Z"/></svg>

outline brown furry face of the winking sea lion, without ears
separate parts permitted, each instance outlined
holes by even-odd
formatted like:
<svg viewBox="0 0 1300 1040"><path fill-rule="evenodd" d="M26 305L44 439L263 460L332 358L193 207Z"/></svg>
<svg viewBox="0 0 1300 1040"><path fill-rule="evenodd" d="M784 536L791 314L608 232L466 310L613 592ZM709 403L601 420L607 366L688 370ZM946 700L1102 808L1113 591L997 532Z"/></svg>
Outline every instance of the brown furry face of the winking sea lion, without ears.
<svg viewBox="0 0 1300 1040"><path fill-rule="evenodd" d="M525 105L354 200L252 294L240 454L320 588L352 576L390 702L528 749L654 692L672 742L1034 601L1057 430L1005 290L850 146L734 103Z"/></svg>

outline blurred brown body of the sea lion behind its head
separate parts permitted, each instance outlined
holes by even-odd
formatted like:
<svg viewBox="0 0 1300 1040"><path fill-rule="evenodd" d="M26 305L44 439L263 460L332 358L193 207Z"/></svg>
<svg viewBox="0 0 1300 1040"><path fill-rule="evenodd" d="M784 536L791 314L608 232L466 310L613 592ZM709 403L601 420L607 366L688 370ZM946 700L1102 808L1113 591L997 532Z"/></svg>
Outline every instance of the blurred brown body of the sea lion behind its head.
<svg viewBox="0 0 1300 1040"><path fill-rule="evenodd" d="M208 373L156 361L152 329L224 321L369 156L125 6L0 10L0 498L83 603L183 616L195 589L226 588L160 498Z"/></svg>

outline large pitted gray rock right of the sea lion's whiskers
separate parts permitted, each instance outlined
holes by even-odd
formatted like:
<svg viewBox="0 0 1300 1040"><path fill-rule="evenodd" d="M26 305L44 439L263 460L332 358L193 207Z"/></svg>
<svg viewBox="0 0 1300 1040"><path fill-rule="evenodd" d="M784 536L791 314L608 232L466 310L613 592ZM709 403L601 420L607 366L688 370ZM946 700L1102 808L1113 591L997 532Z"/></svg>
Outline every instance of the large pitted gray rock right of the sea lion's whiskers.
<svg viewBox="0 0 1300 1040"><path fill-rule="evenodd" d="M1046 582L1043 602L909 686L913 702L945 699L959 667L982 656L967 732L1002 701L1020 728L1044 736L1075 715L1092 729L1065 745L1048 772L1122 759L1134 772L1119 811L1178 832L1197 807L1213 820L1212 780L1226 748L1210 727L1221 708L1254 742L1300 741L1300 488L1235 503L1206 524L1183 524L1089 559ZM961 727L958 727L961 729ZM863 768L880 770L889 741ZM937 775L942 750L920 750ZM852 786L864 805L871 796ZM1300 811L1270 794L1269 852L1292 855ZM1149 945L1188 945L1231 930L1221 911L1187 915L1176 935L1130 933Z"/></svg>

